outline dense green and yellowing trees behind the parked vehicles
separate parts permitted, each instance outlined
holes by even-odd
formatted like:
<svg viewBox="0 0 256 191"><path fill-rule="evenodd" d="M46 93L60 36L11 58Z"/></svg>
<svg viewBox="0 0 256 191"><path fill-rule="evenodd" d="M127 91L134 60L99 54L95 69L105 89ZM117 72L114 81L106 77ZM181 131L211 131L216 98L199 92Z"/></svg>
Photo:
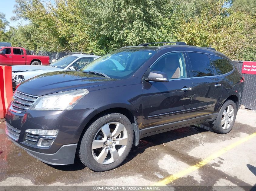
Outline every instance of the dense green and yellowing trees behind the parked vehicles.
<svg viewBox="0 0 256 191"><path fill-rule="evenodd" d="M13 45L103 55L145 42L185 41L231 59L256 60L255 0L52 2L16 0L12 19L30 23L5 32Z"/></svg>

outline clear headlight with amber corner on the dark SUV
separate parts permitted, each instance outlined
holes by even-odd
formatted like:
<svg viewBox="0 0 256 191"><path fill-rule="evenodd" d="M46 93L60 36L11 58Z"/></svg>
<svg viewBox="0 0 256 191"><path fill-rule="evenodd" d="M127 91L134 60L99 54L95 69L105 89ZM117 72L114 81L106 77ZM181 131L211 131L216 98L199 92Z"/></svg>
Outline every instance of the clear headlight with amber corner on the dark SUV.
<svg viewBox="0 0 256 191"><path fill-rule="evenodd" d="M31 110L71 110L88 93L87 89L81 89L41 96L33 103Z"/></svg>

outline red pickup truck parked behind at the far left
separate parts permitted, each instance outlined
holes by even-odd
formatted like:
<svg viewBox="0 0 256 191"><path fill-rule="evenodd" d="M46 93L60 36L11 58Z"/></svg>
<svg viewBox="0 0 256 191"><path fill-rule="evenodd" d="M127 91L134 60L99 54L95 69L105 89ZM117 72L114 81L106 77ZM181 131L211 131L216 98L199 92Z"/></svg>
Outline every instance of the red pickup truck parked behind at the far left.
<svg viewBox="0 0 256 191"><path fill-rule="evenodd" d="M2 47L0 65L49 65L49 56L29 55L19 47Z"/></svg>

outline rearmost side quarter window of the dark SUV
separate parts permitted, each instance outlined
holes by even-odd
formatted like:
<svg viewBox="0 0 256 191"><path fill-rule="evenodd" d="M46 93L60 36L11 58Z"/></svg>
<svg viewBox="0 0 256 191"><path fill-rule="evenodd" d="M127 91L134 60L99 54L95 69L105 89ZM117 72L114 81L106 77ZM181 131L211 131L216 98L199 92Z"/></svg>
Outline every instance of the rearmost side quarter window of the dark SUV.
<svg viewBox="0 0 256 191"><path fill-rule="evenodd" d="M218 75L226 74L234 69L229 60L213 55L210 55L210 57L214 63Z"/></svg>

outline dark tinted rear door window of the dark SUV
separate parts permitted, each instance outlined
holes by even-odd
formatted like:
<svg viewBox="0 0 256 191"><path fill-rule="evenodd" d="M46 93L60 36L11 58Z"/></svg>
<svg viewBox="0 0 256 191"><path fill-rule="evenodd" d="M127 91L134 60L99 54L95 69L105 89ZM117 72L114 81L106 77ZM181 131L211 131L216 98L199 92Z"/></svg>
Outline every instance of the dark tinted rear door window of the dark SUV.
<svg viewBox="0 0 256 191"><path fill-rule="evenodd" d="M188 56L192 65L193 77L213 76L213 67L207 54L190 53Z"/></svg>

